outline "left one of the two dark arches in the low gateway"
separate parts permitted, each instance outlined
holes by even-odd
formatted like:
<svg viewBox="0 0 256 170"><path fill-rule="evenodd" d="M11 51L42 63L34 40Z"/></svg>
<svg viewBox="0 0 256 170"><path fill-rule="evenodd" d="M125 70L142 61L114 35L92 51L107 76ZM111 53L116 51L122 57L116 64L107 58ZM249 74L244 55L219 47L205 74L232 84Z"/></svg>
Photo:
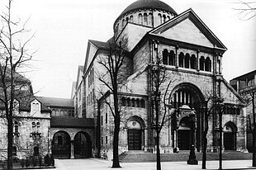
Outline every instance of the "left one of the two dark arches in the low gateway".
<svg viewBox="0 0 256 170"><path fill-rule="evenodd" d="M54 158L70 158L69 134L64 131L55 133L51 147Z"/></svg>

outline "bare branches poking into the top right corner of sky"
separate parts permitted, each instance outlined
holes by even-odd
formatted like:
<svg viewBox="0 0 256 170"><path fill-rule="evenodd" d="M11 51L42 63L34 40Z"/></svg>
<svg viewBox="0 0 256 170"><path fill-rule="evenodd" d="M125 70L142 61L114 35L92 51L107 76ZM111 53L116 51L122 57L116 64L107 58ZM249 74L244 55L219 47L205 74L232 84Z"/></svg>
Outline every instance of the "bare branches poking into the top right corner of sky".
<svg viewBox="0 0 256 170"><path fill-rule="evenodd" d="M256 2L255 1L239 1L235 2L239 5L239 7L235 7L234 9L238 11L239 18L241 20L250 20L256 16Z"/></svg>

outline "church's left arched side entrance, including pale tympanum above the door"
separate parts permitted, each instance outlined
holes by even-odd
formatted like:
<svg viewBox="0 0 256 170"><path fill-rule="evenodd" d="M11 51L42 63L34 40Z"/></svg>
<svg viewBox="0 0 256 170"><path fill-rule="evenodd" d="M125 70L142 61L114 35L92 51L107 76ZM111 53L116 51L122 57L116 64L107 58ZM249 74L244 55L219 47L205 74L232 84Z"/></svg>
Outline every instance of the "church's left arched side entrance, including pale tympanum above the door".
<svg viewBox="0 0 256 170"><path fill-rule="evenodd" d="M142 149L142 126L138 120L129 120L128 127L128 150Z"/></svg>

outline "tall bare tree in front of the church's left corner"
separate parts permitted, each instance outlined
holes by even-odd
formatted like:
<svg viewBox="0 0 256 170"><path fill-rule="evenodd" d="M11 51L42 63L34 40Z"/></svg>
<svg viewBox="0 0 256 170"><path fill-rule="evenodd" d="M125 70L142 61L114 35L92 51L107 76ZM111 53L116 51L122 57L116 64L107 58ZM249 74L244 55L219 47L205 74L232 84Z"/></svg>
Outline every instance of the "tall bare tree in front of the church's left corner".
<svg viewBox="0 0 256 170"><path fill-rule="evenodd" d="M111 115L114 118L114 139L113 139L113 163L112 168L121 168L119 163L118 145L119 145L119 132L121 130L121 106L119 92L126 80L126 59L129 54L126 51L127 39L119 39L116 37L109 41L107 56L98 60L98 64L105 69L103 74L98 76L100 82L102 82L111 92L113 97L113 106L111 102L105 100L107 106L109 106Z"/></svg>

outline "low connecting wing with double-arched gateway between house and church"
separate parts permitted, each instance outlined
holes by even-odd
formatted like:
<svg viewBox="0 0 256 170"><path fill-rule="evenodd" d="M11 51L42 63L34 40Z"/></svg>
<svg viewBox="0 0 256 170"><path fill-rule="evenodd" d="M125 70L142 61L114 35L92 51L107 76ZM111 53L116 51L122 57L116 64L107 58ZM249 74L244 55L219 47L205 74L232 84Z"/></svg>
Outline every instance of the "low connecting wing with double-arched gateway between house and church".
<svg viewBox="0 0 256 170"><path fill-rule="evenodd" d="M50 148L55 158L89 158L94 147L93 119L74 114L73 100L36 97L51 111Z"/></svg>

